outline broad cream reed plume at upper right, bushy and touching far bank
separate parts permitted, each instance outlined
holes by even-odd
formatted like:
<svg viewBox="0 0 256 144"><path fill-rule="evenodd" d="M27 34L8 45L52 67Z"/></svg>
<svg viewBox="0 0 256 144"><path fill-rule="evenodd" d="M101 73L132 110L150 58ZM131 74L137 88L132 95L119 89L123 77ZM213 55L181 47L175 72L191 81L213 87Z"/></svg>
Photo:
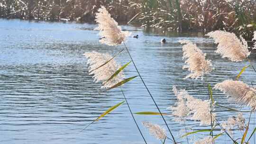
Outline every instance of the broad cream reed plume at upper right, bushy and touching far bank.
<svg viewBox="0 0 256 144"><path fill-rule="evenodd" d="M242 36L238 39L234 33L220 30L212 31L206 36L212 37L215 43L219 44L216 53L229 58L232 62L243 61L250 55L247 42Z"/></svg>

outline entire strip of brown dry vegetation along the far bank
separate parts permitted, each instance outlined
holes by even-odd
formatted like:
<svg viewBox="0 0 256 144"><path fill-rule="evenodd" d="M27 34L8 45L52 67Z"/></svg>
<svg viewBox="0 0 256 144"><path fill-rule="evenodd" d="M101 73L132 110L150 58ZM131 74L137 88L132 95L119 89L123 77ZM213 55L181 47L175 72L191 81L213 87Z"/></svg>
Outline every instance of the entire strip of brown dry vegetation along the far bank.
<svg viewBox="0 0 256 144"><path fill-rule="evenodd" d="M119 24L166 31L224 30L251 40L256 0L0 0L0 18L95 23L106 7Z"/></svg>

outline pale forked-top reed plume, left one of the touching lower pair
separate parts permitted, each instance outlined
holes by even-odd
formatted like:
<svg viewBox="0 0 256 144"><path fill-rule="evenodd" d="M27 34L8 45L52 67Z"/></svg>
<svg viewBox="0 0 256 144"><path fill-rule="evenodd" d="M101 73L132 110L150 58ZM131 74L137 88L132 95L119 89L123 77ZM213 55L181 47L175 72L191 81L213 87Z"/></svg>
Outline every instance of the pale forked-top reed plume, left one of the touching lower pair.
<svg viewBox="0 0 256 144"><path fill-rule="evenodd" d="M190 114L190 111L189 108L186 106L186 103L183 98L189 94L186 90L178 91L176 89L176 86L173 86L173 91L178 101L175 103L175 107L171 106L167 109L172 110L172 114L177 116L174 118L174 121L184 121L185 117L187 117Z"/></svg>

